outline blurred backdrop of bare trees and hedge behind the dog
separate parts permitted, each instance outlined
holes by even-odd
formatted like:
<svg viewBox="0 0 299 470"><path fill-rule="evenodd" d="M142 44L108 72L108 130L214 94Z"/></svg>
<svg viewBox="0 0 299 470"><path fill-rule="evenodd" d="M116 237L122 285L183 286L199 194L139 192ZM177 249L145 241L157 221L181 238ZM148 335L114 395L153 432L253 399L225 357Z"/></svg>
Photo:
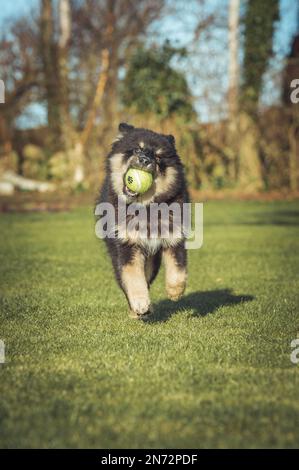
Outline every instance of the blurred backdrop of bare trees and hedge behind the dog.
<svg viewBox="0 0 299 470"><path fill-rule="evenodd" d="M211 5L41 0L32 17L7 23L0 41L0 188L13 171L93 190L118 122L127 120L175 135L196 190L297 191L299 105L290 101L290 84L299 70L298 35L274 66L278 0ZM224 58L222 77L217 63ZM227 93L219 95L225 82ZM281 99L265 104L267 87ZM204 111L212 106L213 117Z"/></svg>

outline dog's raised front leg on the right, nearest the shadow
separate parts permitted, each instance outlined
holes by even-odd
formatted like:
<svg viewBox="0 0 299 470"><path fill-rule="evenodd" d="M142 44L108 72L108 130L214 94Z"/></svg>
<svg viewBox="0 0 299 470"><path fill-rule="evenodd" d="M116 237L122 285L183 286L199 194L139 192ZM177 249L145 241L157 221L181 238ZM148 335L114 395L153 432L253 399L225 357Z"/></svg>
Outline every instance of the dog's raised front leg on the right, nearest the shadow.
<svg viewBox="0 0 299 470"><path fill-rule="evenodd" d="M182 297L187 281L187 253L184 242L163 251L166 292L171 300Z"/></svg>

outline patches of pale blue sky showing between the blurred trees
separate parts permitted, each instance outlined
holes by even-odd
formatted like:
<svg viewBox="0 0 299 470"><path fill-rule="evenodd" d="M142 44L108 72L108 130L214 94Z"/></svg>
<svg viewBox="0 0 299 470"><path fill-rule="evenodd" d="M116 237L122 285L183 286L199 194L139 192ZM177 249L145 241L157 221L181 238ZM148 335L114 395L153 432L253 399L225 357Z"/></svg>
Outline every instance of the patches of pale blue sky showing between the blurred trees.
<svg viewBox="0 0 299 470"><path fill-rule="evenodd" d="M200 14L199 3L196 0L183 3L179 0L168 0L170 7L176 2L177 5L182 6L180 13L165 16L160 20L159 28L153 30L154 40L164 41L167 37L175 38L179 44L183 45L190 41L192 29ZM38 8L39 3L39 0L0 0L0 31L5 29L7 21L12 18L30 15L33 9ZM299 27L298 4L297 0L280 0L281 20L275 33L275 55L265 77L264 104L270 104L279 99L279 88L277 85L274 87L273 82L276 80L274 77L283 67L291 40ZM206 5L208 10L222 8L225 11L228 0L209 0ZM194 59L189 60L188 64L181 64L181 67L184 70L188 67L189 84L196 98L196 108L204 121L217 118L219 114L225 113L223 103L225 103L224 97L227 90L227 32L220 31L212 38L200 38L193 53ZM36 107L31 109L31 114L35 115L35 119L43 121L45 112L41 109L36 112L36 109ZM28 122L28 120L30 119L25 117L25 121ZM22 125L26 125L25 122Z"/></svg>

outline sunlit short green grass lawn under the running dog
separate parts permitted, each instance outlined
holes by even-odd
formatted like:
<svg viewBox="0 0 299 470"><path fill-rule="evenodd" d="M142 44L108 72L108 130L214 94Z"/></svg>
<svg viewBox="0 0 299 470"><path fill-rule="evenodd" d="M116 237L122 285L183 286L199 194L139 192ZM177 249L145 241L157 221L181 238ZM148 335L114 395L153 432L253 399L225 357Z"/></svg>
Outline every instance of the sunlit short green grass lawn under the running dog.
<svg viewBox="0 0 299 470"><path fill-rule="evenodd" d="M162 271L150 323L92 208L0 225L0 447L298 447L298 203L206 203L187 293Z"/></svg>

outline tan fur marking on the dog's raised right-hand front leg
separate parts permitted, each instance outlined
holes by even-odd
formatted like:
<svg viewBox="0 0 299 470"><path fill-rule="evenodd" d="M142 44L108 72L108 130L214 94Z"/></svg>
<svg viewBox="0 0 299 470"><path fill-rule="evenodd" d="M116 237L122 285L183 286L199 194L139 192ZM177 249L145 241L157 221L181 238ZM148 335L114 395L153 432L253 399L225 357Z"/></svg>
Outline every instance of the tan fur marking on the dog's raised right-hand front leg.
<svg viewBox="0 0 299 470"><path fill-rule="evenodd" d="M163 252L165 264L166 292L171 300L182 297L187 281L187 270L177 265L171 250Z"/></svg>

